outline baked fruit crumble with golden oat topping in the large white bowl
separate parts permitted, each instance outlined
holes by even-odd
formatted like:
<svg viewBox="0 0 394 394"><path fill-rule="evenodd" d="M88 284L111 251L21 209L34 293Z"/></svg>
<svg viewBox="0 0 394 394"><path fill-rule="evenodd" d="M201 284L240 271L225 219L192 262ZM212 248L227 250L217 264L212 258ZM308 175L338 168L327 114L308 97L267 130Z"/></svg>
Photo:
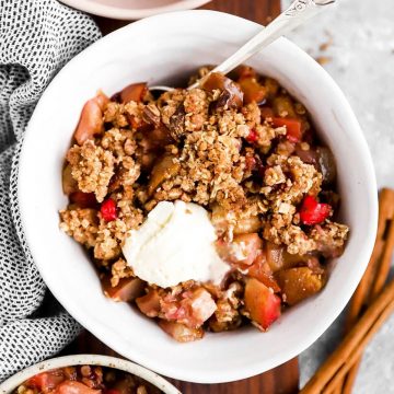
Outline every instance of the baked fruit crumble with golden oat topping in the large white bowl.
<svg viewBox="0 0 394 394"><path fill-rule="evenodd" d="M70 205L60 227L90 252L108 297L136 302L179 341L251 321L267 329L324 287L327 259L343 253L349 230L335 221L334 157L305 107L250 67L231 78L212 74L157 99L144 83L112 99L100 92L66 157ZM124 256L148 213L177 200L209 212L229 265L221 283L160 288Z"/></svg>

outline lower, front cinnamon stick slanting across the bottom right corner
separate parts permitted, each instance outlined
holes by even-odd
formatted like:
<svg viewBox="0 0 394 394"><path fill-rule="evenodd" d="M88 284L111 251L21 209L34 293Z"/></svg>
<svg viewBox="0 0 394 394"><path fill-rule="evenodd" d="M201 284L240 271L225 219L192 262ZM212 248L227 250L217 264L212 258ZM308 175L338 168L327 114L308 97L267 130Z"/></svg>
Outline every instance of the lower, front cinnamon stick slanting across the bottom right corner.
<svg viewBox="0 0 394 394"><path fill-rule="evenodd" d="M394 312L394 281L373 301L363 316L328 357L315 375L301 390L301 394L331 393L341 381L372 336ZM334 376L334 378L333 378Z"/></svg>

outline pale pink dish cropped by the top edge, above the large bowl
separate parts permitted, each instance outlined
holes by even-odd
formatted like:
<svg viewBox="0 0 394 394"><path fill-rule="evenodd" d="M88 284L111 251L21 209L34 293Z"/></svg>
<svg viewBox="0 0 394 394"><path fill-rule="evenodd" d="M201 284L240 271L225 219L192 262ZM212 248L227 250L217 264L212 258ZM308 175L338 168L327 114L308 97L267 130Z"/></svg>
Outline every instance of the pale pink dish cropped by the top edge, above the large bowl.
<svg viewBox="0 0 394 394"><path fill-rule="evenodd" d="M111 4L99 3L95 0L60 0L65 4L94 15L113 18L117 20L138 20L159 13L192 10L206 4L211 0L178 0L167 5L154 8L128 9ZM142 0L143 1L143 0Z"/></svg>

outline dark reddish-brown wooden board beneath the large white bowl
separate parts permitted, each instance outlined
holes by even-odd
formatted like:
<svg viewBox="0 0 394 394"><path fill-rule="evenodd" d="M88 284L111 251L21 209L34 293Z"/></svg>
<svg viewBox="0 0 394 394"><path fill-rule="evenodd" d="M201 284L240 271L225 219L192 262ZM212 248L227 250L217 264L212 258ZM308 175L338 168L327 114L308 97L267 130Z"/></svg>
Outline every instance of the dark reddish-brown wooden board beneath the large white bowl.
<svg viewBox="0 0 394 394"><path fill-rule="evenodd" d="M260 24L266 24L279 13L280 1L215 0L202 7L202 9L223 11ZM94 19L104 34L111 33L129 23L128 21L116 21L99 16L94 16ZM120 357L88 332L83 332L79 338L63 351L63 354L83 352ZM233 383L195 384L175 380L171 381L185 394L292 394L298 392L298 360L291 360L260 375Z"/></svg>

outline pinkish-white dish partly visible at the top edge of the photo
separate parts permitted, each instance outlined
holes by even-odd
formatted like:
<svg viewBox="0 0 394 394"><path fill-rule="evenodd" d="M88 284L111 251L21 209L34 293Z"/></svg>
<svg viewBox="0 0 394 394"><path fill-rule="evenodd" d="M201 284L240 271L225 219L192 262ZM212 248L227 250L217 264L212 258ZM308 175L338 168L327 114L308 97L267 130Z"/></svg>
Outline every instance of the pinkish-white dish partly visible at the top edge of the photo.
<svg viewBox="0 0 394 394"><path fill-rule="evenodd" d="M137 20L163 12L192 10L210 0L60 0L94 15Z"/></svg>

